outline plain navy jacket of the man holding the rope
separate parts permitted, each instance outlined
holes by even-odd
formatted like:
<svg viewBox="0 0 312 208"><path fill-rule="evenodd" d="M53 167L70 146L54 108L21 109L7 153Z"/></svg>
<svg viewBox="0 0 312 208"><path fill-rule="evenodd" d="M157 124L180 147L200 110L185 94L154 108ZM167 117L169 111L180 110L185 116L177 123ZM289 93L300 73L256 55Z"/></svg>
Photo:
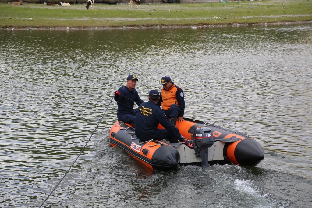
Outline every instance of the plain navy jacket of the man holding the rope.
<svg viewBox="0 0 312 208"><path fill-rule="evenodd" d="M128 89L128 87L126 87L126 86L120 87L118 89L118 92L120 93L120 95L119 96L115 95L115 97L114 97L114 100L117 101L117 105L118 105L117 117L119 117L123 114L133 115L133 113L134 113L134 110L133 110L134 101L136 102L136 104L138 106L141 103L143 103L143 101L139 97L139 93L136 91L136 89L132 89L132 91L130 91ZM131 100L129 100L126 97L129 97ZM134 100L134 101L132 101L132 100Z"/></svg>

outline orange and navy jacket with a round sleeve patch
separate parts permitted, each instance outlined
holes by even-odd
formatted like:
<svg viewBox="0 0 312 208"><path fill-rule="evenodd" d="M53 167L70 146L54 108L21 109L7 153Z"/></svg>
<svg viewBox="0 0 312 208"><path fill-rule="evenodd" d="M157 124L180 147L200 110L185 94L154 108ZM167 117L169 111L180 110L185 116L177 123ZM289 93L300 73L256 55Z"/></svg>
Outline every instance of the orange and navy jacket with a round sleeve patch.
<svg viewBox="0 0 312 208"><path fill-rule="evenodd" d="M181 111L178 112L178 118L183 118L185 108L184 93L183 90L173 82L168 90L164 88L161 90L160 100L157 102L157 106L161 105L164 111L168 111L172 104L177 104L179 106Z"/></svg>

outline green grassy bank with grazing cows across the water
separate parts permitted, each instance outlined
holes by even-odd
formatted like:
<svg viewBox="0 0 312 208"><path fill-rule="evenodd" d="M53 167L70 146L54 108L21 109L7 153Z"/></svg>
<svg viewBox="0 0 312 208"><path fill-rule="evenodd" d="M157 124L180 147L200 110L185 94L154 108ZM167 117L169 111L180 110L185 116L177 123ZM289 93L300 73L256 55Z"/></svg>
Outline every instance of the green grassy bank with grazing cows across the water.
<svg viewBox="0 0 312 208"><path fill-rule="evenodd" d="M312 20L312 0L263 0L253 2L143 4L95 4L71 7L45 4L0 4L2 28L56 27L155 27L190 25L261 24Z"/></svg>

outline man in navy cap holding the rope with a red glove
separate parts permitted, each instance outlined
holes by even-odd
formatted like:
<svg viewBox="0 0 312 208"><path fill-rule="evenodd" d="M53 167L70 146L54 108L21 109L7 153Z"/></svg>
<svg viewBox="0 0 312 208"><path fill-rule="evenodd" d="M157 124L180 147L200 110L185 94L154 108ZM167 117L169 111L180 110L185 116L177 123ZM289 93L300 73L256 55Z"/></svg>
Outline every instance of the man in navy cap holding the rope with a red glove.
<svg viewBox="0 0 312 208"><path fill-rule="evenodd" d="M138 92L134 89L138 78L132 74L128 76L127 85L122 86L115 91L114 100L117 101L118 110L117 118L118 121L124 121L125 123L131 123L135 127L135 116L136 111L133 110L134 102L139 106L143 103L139 97Z"/></svg>

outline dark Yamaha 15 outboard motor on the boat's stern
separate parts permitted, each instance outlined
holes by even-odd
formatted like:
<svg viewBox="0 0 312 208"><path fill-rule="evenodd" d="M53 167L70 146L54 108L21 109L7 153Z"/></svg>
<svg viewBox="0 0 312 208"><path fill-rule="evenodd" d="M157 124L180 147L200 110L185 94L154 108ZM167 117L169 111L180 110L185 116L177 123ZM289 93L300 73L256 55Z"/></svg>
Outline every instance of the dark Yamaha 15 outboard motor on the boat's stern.
<svg viewBox="0 0 312 208"><path fill-rule="evenodd" d="M210 128L202 127L194 130L193 141L196 157L202 158L202 166L208 167L208 147L213 145L213 136Z"/></svg>

